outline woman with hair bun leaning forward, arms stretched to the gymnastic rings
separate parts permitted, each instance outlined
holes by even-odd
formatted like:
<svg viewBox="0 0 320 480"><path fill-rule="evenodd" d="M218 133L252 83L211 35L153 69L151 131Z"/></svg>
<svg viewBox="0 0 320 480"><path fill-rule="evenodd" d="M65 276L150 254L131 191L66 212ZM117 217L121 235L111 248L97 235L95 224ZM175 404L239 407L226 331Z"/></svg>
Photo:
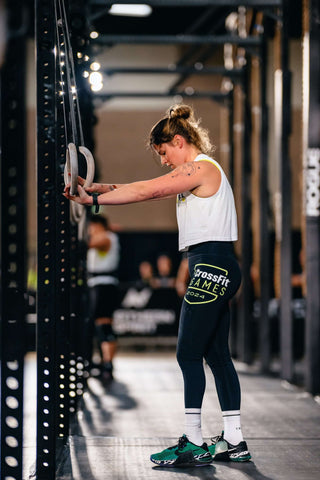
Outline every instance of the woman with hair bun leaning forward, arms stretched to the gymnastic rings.
<svg viewBox="0 0 320 480"><path fill-rule="evenodd" d="M229 300L241 274L233 254L237 218L230 184L208 154L208 133L187 105L170 108L151 130L149 144L171 172L127 185L94 184L78 196L85 205L120 205L177 195L179 250L187 251L190 283L181 309L177 359L183 373L185 434L174 447L151 455L159 466L208 465L213 458L251 458L240 425L240 385L229 348ZM94 192L92 197L88 193ZM100 194L97 196L97 194ZM201 433L205 391L203 359L210 366L223 415L224 431L209 447Z"/></svg>

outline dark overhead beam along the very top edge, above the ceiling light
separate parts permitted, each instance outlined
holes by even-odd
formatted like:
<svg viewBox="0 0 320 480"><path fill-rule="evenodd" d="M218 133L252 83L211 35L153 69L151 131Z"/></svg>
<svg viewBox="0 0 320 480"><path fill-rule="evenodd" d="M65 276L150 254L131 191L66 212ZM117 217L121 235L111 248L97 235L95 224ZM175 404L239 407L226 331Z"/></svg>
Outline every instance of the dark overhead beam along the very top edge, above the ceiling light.
<svg viewBox="0 0 320 480"><path fill-rule="evenodd" d="M114 0L89 0L91 5L111 7ZM123 0L116 3L137 3L137 0ZM239 0L144 0L152 7L238 7ZM241 6L244 7L280 7L282 0L242 0Z"/></svg>

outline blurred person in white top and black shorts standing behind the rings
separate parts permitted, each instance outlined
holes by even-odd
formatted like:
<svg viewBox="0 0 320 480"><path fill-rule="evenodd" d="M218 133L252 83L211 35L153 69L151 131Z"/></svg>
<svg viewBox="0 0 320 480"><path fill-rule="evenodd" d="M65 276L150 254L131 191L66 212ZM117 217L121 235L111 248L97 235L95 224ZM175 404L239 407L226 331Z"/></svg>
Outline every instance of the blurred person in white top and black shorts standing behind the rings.
<svg viewBox="0 0 320 480"><path fill-rule="evenodd" d="M94 215L88 225L87 271L90 303L88 360L92 362L93 334L101 353L102 380L113 378L113 358L117 338L112 327L113 313L118 306L118 267L120 244L106 217Z"/></svg>

